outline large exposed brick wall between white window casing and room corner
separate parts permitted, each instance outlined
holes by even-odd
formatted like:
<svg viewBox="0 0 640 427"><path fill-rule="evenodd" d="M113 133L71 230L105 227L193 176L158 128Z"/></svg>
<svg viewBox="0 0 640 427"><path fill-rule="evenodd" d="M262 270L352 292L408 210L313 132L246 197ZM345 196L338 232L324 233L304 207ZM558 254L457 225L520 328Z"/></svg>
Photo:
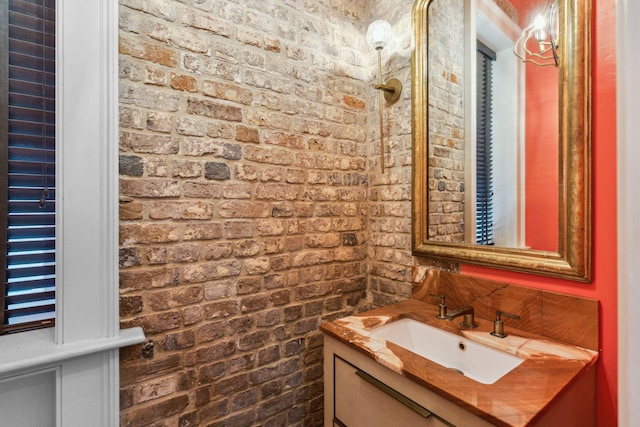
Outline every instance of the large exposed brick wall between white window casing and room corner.
<svg viewBox="0 0 640 427"><path fill-rule="evenodd" d="M367 304L365 4L120 1L121 425L321 425L318 325Z"/></svg>

